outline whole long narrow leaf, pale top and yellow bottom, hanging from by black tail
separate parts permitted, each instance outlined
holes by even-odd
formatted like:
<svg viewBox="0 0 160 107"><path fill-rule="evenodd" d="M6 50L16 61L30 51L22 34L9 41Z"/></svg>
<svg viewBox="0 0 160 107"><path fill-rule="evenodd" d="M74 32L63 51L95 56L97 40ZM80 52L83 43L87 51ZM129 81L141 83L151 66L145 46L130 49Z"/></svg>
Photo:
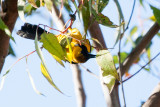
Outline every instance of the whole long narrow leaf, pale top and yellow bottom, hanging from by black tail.
<svg viewBox="0 0 160 107"><path fill-rule="evenodd" d="M62 93L59 88L57 88L57 86L54 84L54 82L52 81L52 78L50 77L49 75L49 72L47 70L47 66L46 66L46 63L45 63L45 60L44 60L44 57L43 57L43 54L42 54L42 51L41 49L39 48L38 46L38 35L37 35L37 32L36 32L36 37L35 37L35 48L36 48L36 52L39 56L39 58L41 59L41 71L42 71L42 74L45 76L45 78L48 80L48 82L56 89L58 90L60 93ZM63 93L62 93L63 94Z"/></svg>

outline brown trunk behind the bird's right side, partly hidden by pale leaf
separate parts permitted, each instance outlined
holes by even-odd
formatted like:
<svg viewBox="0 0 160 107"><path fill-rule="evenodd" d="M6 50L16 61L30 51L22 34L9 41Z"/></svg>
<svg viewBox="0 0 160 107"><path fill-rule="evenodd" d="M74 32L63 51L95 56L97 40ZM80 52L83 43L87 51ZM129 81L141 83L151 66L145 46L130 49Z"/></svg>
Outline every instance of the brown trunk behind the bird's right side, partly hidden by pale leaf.
<svg viewBox="0 0 160 107"><path fill-rule="evenodd" d="M100 41L103 48L107 49L107 46L105 44L105 41L104 41L104 38L103 38L103 35L102 35L102 32L101 32L101 29L100 29L99 24L97 22L94 22L90 26L89 32L90 32L92 38L95 38L98 41ZM99 44L97 44L94 41L93 41L93 43L98 49L101 49L101 46ZM108 88L102 80L102 73L101 72L100 72L100 79L101 79L100 82L101 82L101 85L102 85L102 89L103 89L104 97L105 97L105 100L106 100L106 103L107 103L107 107L120 107L119 96L118 96L118 85L115 85L115 87L112 90L112 93L109 94Z"/></svg>

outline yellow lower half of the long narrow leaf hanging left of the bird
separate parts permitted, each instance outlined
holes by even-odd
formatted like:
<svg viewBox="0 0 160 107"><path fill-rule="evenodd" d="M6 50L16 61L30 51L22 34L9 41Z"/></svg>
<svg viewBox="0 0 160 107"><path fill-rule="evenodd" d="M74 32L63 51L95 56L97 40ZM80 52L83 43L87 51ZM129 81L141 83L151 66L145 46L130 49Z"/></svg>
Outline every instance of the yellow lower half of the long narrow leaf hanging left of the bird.
<svg viewBox="0 0 160 107"><path fill-rule="evenodd" d="M43 66L43 64L41 63L41 72L43 74L43 76L47 79L47 81L56 89L58 90L60 93L62 93L62 91L55 85L55 83L53 82L48 70L46 69L45 66ZM63 94L63 93L62 93Z"/></svg>

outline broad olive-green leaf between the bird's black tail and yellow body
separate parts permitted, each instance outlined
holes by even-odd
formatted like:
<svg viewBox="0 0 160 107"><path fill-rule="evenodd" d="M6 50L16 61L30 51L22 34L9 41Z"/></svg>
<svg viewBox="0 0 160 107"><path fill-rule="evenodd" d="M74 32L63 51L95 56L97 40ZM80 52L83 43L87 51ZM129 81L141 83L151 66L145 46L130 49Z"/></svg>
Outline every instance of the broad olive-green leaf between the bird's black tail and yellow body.
<svg viewBox="0 0 160 107"><path fill-rule="evenodd" d="M60 43L57 40L57 37L51 33L43 33L41 35L40 42L43 43L43 47L48 50L52 55L57 56L61 60L65 60L66 53L62 49Z"/></svg>

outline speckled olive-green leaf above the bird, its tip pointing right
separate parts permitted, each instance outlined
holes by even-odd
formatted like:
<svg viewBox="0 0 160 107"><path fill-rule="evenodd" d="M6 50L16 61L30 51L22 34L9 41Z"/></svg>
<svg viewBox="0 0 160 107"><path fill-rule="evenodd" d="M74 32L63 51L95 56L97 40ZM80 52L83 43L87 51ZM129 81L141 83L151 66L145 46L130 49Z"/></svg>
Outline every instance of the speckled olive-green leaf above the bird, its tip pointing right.
<svg viewBox="0 0 160 107"><path fill-rule="evenodd" d="M92 9L92 14L93 14L95 20L99 24L102 24L102 25L108 26L108 27L112 27L112 28L118 27L117 25L114 25L113 22L107 16L103 15L102 13L97 14L96 11Z"/></svg>

